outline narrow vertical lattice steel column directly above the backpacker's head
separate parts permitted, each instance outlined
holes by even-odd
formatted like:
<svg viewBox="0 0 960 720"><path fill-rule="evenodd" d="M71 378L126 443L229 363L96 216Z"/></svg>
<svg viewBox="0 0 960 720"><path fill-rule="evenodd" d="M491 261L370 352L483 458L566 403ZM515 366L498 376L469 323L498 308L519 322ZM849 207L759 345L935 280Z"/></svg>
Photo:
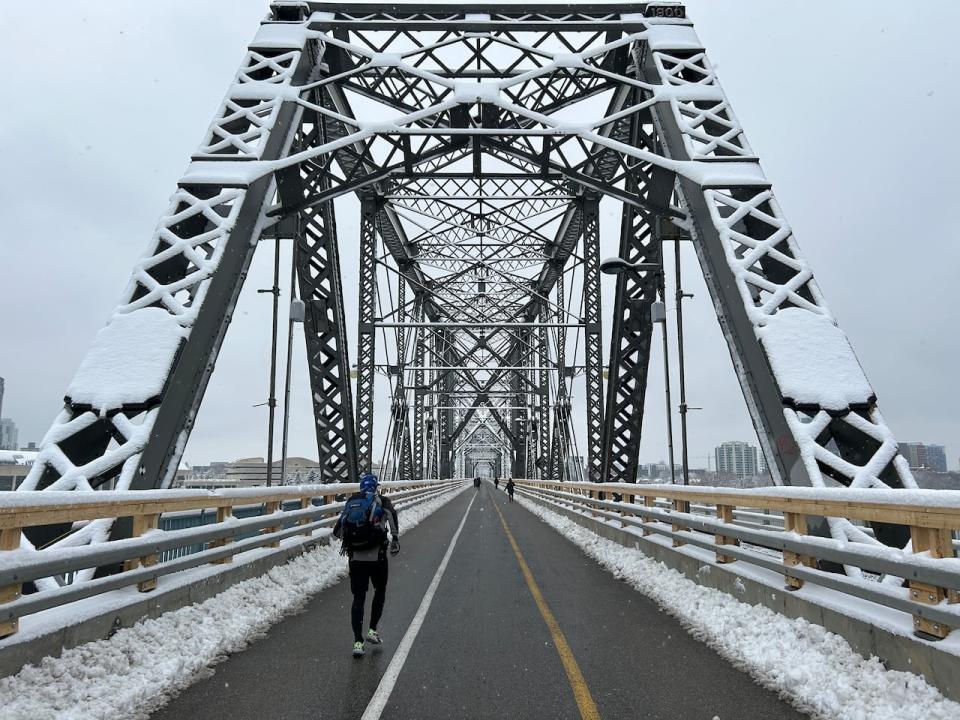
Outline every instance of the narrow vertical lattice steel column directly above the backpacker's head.
<svg viewBox="0 0 960 720"><path fill-rule="evenodd" d="M360 202L360 322L357 328L357 465L373 464L374 313L377 297L377 200Z"/></svg>

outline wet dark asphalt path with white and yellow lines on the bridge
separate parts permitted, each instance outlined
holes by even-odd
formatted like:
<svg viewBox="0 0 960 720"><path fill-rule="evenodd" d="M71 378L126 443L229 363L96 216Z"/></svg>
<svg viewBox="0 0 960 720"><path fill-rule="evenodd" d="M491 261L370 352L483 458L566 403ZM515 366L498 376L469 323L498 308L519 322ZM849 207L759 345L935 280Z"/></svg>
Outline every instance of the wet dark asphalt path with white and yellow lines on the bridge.
<svg viewBox="0 0 960 720"><path fill-rule="evenodd" d="M360 718L471 501L382 717L582 717L577 683L568 679L497 508L599 717L803 717L506 499L489 483L479 492L470 488L402 537L390 567L380 648L368 645L365 657L350 656L350 589L342 581L153 717Z"/></svg>

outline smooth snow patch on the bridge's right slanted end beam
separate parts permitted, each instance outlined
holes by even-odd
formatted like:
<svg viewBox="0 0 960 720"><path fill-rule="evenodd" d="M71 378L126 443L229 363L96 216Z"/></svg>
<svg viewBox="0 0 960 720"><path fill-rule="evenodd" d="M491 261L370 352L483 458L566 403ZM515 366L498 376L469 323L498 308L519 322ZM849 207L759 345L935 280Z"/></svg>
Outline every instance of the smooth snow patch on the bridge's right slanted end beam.
<svg viewBox="0 0 960 720"><path fill-rule="evenodd" d="M830 318L786 308L771 315L757 335L785 398L844 410L874 396L850 341Z"/></svg>

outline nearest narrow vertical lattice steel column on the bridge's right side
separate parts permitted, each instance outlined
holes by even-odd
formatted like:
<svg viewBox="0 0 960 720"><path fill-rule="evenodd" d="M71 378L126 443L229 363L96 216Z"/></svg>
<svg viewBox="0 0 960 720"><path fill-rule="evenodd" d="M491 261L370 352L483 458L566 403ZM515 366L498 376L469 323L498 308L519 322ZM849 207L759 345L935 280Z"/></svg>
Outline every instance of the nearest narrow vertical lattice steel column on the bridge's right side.
<svg viewBox="0 0 960 720"><path fill-rule="evenodd" d="M587 479L603 481L603 349L600 326L600 200L583 202L583 309L586 342Z"/></svg>

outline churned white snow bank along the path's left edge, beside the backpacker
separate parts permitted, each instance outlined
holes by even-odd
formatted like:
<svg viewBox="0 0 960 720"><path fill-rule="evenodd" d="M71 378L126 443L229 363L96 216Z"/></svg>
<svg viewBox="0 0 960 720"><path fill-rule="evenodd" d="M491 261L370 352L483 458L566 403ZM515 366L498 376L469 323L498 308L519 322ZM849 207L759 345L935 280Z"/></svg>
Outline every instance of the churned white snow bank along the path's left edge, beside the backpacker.
<svg viewBox="0 0 960 720"><path fill-rule="evenodd" d="M466 487L402 510L401 532ZM28 665L0 679L0 720L145 718L346 572L339 547L321 546L205 602Z"/></svg>

